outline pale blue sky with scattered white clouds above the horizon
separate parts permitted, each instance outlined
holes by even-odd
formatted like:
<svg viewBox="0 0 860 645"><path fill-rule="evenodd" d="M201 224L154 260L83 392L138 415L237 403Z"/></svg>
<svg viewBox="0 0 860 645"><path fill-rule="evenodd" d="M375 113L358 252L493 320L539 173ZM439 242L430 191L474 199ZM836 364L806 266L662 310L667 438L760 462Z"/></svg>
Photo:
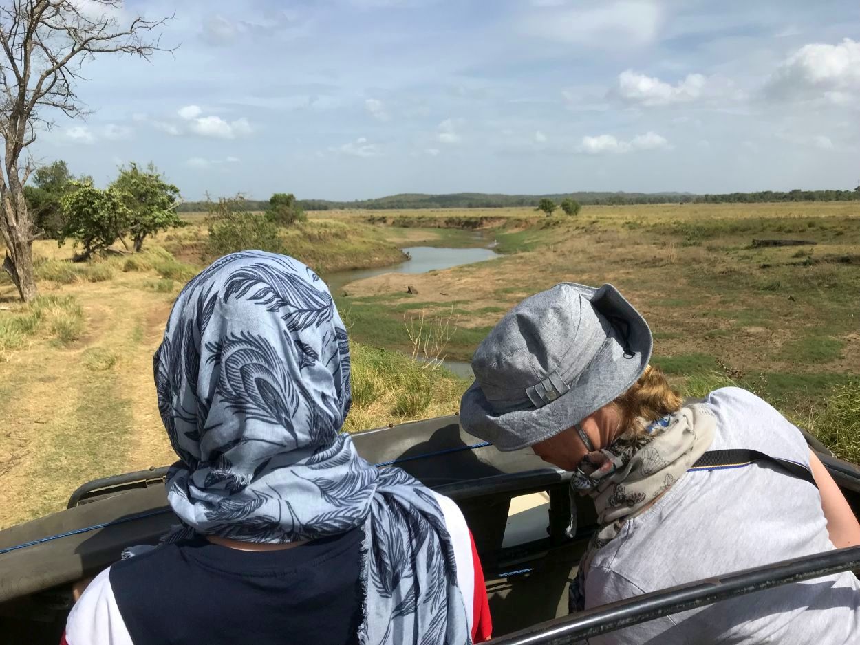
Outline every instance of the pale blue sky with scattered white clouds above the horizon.
<svg viewBox="0 0 860 645"><path fill-rule="evenodd" d="M90 0L77 0L89 3ZM33 153L186 200L726 193L860 183L860 3L138 0L151 61L86 64Z"/></svg>

